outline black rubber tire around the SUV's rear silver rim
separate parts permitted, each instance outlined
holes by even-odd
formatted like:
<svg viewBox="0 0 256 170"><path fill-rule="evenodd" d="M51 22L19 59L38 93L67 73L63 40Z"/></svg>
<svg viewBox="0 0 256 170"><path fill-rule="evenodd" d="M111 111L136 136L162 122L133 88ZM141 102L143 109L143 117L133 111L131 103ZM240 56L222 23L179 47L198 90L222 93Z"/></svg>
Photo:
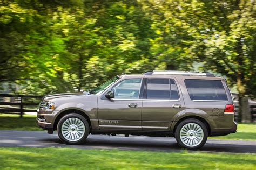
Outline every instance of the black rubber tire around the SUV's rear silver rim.
<svg viewBox="0 0 256 170"><path fill-rule="evenodd" d="M200 126L200 128L203 130L203 139L200 140L200 142L198 143L197 146L188 146L188 145L185 145L184 142L181 140L180 138L180 131L181 131L181 128L183 128L185 125L190 125L190 124L197 124ZM192 134L193 136L193 134ZM178 145L181 147L181 148L187 148L188 150L197 150L199 149L200 147L204 146L204 144L206 143L206 140L207 140L207 137L208 137L208 131L207 131L207 128L206 128L206 125L199 121L198 119L194 119L194 118L190 118L190 119L185 119L184 121L180 122L177 126L177 129L175 131L175 138L176 138L176 141L178 143ZM183 138L183 140L185 140L186 138ZM190 140L191 139L186 139L187 141L189 141L188 143L190 143ZM191 142L192 143L192 142ZM196 145L196 144L195 144Z"/></svg>

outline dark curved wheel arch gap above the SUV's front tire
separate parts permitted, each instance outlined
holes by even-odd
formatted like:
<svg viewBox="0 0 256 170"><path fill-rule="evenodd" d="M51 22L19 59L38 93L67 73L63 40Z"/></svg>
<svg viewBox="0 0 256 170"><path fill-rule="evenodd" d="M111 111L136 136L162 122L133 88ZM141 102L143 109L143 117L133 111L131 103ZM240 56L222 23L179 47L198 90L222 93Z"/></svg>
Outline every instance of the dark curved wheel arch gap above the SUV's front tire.
<svg viewBox="0 0 256 170"><path fill-rule="evenodd" d="M71 113L76 113L76 114L82 115L88 121L89 126L90 126L90 132L91 132L91 121L90 121L89 116L84 111L81 111L78 109L68 109L68 110L64 110L64 111L60 112L60 114L58 114L58 116L55 118L55 121L53 123L53 130L57 129L58 122L63 116L71 114Z"/></svg>

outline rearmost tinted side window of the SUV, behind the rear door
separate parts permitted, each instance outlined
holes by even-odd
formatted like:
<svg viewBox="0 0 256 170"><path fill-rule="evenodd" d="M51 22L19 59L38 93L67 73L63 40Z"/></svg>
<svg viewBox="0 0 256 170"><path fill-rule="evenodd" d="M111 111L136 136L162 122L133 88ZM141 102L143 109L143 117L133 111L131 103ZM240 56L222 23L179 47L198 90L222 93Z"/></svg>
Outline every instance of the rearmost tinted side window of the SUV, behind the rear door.
<svg viewBox="0 0 256 170"><path fill-rule="evenodd" d="M191 100L227 101L226 91L220 80L185 80Z"/></svg>

